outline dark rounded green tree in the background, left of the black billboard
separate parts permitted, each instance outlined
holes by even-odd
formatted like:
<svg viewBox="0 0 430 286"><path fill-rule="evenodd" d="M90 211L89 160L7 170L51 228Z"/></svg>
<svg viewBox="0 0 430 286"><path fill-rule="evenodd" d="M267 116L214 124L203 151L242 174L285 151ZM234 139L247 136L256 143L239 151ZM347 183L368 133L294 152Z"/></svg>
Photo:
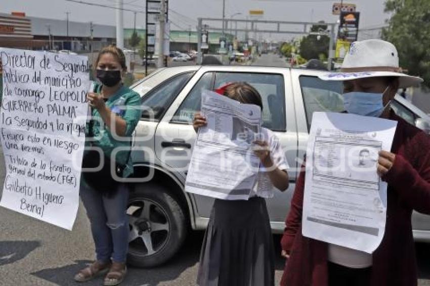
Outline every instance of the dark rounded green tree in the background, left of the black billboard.
<svg viewBox="0 0 430 286"><path fill-rule="evenodd" d="M327 30L327 25L323 21L320 21L320 23L320 25L313 25L311 32L319 32L321 35L307 35L300 41L300 55L307 60L320 59L321 57L328 58L330 37L323 34Z"/></svg>

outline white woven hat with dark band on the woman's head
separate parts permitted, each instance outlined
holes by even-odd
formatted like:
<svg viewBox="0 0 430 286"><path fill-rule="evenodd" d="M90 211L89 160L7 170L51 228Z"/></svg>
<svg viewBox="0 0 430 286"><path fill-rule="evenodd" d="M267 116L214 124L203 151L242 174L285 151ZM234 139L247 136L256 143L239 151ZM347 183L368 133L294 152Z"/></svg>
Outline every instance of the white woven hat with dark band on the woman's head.
<svg viewBox="0 0 430 286"><path fill-rule="evenodd" d="M319 78L345 81L380 76L398 77L399 88L423 82L420 77L402 73L397 49L391 42L376 39L353 42L340 72L326 73Z"/></svg>

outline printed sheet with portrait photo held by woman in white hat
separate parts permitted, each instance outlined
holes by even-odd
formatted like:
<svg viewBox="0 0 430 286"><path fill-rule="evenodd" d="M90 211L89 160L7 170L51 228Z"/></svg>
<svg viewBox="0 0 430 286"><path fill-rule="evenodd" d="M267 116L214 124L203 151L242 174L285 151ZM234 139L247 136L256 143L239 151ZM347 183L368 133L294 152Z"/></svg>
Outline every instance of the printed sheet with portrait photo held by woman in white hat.
<svg viewBox="0 0 430 286"><path fill-rule="evenodd" d="M397 122L315 112L306 156L303 235L372 253L385 231L386 189L378 152L390 151Z"/></svg>

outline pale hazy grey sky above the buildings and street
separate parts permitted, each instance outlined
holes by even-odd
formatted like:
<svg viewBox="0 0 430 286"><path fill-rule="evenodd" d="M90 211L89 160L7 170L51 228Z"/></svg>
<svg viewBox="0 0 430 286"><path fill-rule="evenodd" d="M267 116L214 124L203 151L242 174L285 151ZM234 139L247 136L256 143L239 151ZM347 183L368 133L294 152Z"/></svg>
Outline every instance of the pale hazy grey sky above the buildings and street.
<svg viewBox="0 0 430 286"><path fill-rule="evenodd" d="M83 2L115 6L116 0L79 0ZM331 15L333 0L225 0L226 18L232 14L236 19L244 19L251 9L264 10L263 20L281 21L319 21L335 22L338 16ZM70 12L69 20L115 25L115 11L109 8L93 7L66 0L0 0L0 12L25 12L28 16L66 19L65 12ZM389 17L383 12L385 0L344 1L357 5L361 12L360 27L380 26ZM144 11L145 0L124 0L124 8ZM222 17L223 0L169 0L169 19L172 30L195 30L198 17ZM124 11L124 27L133 27L134 13ZM137 14L136 26L145 26L144 14ZM285 27L290 28L290 27ZM291 27L298 29L299 27ZM273 36L275 37L275 36ZM278 38L278 37L276 37Z"/></svg>

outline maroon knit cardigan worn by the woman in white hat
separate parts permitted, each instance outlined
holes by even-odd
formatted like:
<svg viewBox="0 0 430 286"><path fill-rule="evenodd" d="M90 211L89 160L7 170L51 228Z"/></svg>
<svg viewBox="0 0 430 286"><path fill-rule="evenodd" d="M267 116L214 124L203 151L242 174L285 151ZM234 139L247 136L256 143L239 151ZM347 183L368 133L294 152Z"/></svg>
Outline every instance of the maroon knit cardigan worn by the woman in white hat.
<svg viewBox="0 0 430 286"><path fill-rule="evenodd" d="M388 182L385 234L373 253L371 286L417 285L412 211L430 214L430 137L396 116L391 152L396 160L382 178ZM327 286L327 244L302 235L305 170L297 180L285 221L282 249L290 254L282 286Z"/></svg>

